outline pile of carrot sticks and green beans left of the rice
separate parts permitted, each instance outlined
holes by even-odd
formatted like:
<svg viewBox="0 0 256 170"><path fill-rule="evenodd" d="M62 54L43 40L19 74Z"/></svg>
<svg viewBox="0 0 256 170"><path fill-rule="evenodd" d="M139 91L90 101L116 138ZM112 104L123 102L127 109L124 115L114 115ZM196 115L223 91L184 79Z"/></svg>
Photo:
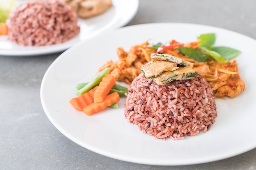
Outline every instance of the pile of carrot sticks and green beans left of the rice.
<svg viewBox="0 0 256 170"><path fill-rule="evenodd" d="M109 68L99 72L90 82L79 83L76 89L79 95L72 98L70 104L87 115L106 107L118 108L120 97L128 93L128 88L116 84L115 77L109 74Z"/></svg>

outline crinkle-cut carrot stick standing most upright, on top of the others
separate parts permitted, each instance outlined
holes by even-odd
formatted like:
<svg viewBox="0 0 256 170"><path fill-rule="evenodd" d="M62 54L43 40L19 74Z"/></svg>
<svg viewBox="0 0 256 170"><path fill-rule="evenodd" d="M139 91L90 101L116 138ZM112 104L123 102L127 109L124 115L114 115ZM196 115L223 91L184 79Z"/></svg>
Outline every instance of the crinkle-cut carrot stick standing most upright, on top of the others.
<svg viewBox="0 0 256 170"><path fill-rule="evenodd" d="M102 102L115 84L115 77L111 74L106 74L94 92L94 102Z"/></svg>

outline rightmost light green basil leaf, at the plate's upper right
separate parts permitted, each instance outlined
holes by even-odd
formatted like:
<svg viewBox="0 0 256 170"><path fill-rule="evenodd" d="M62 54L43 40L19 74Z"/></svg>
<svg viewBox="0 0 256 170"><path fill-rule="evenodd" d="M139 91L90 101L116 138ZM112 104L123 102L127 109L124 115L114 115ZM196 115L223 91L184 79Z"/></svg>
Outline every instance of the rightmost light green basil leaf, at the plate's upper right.
<svg viewBox="0 0 256 170"><path fill-rule="evenodd" d="M236 58L239 54L241 54L239 50L224 46L213 47L211 48L211 50L218 52L220 56L226 59L227 61L230 61Z"/></svg>

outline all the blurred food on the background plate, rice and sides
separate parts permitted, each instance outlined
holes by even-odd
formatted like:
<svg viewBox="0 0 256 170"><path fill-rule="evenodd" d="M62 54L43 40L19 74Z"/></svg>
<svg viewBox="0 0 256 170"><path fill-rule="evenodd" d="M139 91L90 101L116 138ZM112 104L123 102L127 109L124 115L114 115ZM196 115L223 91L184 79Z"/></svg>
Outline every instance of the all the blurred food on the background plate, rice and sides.
<svg viewBox="0 0 256 170"><path fill-rule="evenodd" d="M78 17L110 7L111 0L0 0L0 35L24 46L60 44L79 34Z"/></svg>

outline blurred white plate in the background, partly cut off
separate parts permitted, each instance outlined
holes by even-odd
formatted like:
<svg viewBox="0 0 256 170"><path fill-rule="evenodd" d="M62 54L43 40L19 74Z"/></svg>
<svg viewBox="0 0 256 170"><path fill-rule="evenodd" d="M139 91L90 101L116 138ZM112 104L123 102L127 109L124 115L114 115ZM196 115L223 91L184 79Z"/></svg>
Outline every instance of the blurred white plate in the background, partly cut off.
<svg viewBox="0 0 256 170"><path fill-rule="evenodd" d="M79 18L78 25L81 32L76 37L62 44L50 46L22 46L0 35L0 55L30 56L62 52L80 41L89 39L103 31L112 30L124 26L132 20L137 13L139 0L112 0L113 7L105 13L89 19Z"/></svg>

